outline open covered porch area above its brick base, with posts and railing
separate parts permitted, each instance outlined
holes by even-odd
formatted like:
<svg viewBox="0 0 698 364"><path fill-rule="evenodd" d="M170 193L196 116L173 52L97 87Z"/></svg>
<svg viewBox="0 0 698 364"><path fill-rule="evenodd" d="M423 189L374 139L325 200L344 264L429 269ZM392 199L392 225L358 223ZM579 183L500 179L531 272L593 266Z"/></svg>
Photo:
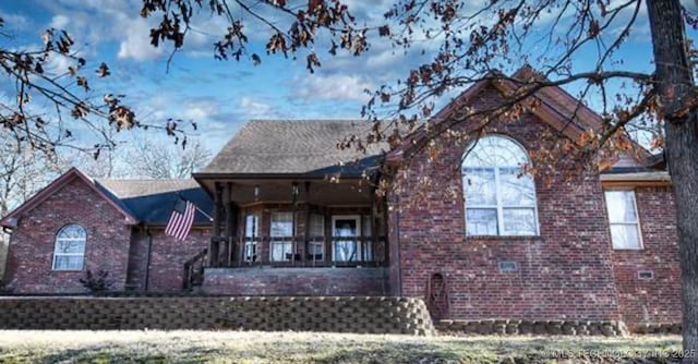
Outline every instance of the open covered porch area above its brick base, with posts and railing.
<svg viewBox="0 0 698 364"><path fill-rule="evenodd" d="M203 177L209 268L387 266L385 201L365 179Z"/></svg>

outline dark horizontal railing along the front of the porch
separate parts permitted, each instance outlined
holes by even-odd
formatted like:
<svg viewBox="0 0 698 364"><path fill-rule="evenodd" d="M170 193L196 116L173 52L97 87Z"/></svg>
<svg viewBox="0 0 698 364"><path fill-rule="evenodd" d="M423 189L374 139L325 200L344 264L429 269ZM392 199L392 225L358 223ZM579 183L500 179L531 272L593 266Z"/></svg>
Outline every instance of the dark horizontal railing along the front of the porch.
<svg viewBox="0 0 698 364"><path fill-rule="evenodd" d="M385 236L214 238L210 267L357 267L387 264Z"/></svg>

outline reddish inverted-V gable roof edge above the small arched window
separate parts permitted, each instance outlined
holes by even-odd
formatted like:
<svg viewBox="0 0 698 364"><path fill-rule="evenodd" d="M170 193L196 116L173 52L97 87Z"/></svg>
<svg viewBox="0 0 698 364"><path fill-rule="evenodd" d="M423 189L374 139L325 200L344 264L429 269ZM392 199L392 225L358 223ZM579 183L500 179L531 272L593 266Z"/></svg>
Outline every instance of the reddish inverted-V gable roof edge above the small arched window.
<svg viewBox="0 0 698 364"><path fill-rule="evenodd" d="M109 205L111 205L117 211L123 215L127 223L137 222L137 218L133 215L133 213L130 211L127 206L121 204L121 202L116 196L97 187L92 179L83 174L83 172L81 172L77 168L73 167L68 170L68 172L53 180L53 182L49 183L46 187L37 192L34 196L32 196L32 198L27 199L24 204L12 210L10 214L8 214L8 216L3 217L2 220L0 220L0 226L5 228L13 228L16 219L19 219L20 216L29 213L47 198L52 196L57 191L61 190L62 187L68 185L68 183L75 180L84 183L87 187L89 187L97 195L109 203Z"/></svg>

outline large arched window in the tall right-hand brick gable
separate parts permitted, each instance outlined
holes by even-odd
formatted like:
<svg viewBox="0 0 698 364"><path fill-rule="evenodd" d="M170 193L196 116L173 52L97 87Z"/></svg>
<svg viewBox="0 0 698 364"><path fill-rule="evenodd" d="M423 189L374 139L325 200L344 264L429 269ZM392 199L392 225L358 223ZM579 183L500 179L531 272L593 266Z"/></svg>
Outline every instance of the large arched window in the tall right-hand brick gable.
<svg viewBox="0 0 698 364"><path fill-rule="evenodd" d="M535 184L521 174L526 150L505 136L489 135L466 149L462 185L468 235L537 235Z"/></svg>

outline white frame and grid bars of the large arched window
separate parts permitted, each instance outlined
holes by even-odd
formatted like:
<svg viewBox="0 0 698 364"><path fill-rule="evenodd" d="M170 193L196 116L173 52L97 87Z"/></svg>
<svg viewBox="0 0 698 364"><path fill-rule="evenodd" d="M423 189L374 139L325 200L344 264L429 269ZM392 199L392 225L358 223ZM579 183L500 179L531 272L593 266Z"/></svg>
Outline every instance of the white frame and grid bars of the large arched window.
<svg viewBox="0 0 698 364"><path fill-rule="evenodd" d="M526 159L530 162L530 157L528 156L528 153L526 150L526 148L524 148L524 146L521 146L518 142L512 139L510 137L504 136L504 135L488 135L488 136L483 136L483 137L497 137L497 138L503 138L506 139L507 142L510 142L513 144L515 144L521 151L521 154L524 154L524 156L526 156ZM476 141L473 143L479 143L479 141ZM469 146L466 149L466 153L468 153L471 149L471 146ZM497 232L496 234L485 234L483 236L539 236L540 235L540 221L538 218L538 194L535 191L535 180L532 177L529 177L531 179L531 182L533 182L533 204L532 205L504 205L504 203L502 202L502 178L501 178L501 170L502 169L520 169L521 166L482 166L482 167L476 167L476 166L466 166L466 160L467 158L464 158L464 161L461 163L460 167L460 173L461 173L461 182L462 182L462 194L464 197L466 196L466 189L468 189L468 174L466 173L467 169L492 169L494 170L494 194L495 194L495 199L496 199L496 205L469 205L468 202L465 202L465 220L466 220L466 235L468 236L480 236L482 234L469 234L468 233L468 210L469 209L495 209L496 210L496 215L497 215ZM464 198L465 199L465 198ZM505 209L533 209L533 226L535 228L535 231L533 234L506 234L505 230L504 230L504 210Z"/></svg>

